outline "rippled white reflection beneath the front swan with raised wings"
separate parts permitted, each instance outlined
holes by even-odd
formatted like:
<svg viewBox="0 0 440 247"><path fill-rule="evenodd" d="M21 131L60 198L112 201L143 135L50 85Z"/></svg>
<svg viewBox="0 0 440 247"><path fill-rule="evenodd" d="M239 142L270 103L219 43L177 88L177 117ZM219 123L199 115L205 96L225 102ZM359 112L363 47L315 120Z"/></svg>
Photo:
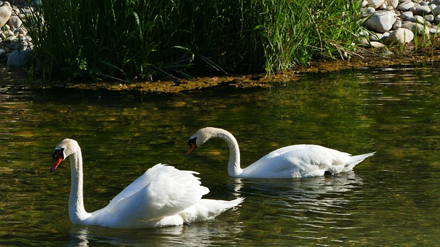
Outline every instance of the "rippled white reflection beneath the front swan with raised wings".
<svg viewBox="0 0 440 247"><path fill-rule="evenodd" d="M239 210L228 211L216 220L195 222L190 226L143 229L114 229L101 226L72 225L68 246L215 246L241 233ZM226 240L225 240L226 239Z"/></svg>

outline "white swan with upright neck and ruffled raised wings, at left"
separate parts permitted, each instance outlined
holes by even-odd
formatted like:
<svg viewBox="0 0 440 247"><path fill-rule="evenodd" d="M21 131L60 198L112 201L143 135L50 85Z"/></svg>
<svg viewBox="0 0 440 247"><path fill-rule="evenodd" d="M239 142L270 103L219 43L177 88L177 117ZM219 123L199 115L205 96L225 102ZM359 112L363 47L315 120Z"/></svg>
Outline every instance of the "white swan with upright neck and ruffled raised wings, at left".
<svg viewBox="0 0 440 247"><path fill-rule="evenodd" d="M210 220L243 201L201 199L209 189L200 185L197 172L181 171L157 164L122 190L109 204L87 213L83 202L83 158L78 143L64 139L52 154L51 171L69 156L72 184L69 196L69 217L74 224L111 228L146 228L177 226Z"/></svg>

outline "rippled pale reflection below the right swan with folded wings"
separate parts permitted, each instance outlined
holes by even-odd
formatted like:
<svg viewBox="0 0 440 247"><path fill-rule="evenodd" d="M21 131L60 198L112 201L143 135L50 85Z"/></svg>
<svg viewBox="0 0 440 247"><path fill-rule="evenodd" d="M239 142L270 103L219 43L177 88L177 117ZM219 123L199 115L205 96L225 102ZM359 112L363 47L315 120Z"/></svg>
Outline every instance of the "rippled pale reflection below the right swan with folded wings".
<svg viewBox="0 0 440 247"><path fill-rule="evenodd" d="M228 186L234 191L234 196L246 198L247 207L243 206L243 211L259 211L262 205L267 205L277 209L276 213L279 215L295 217L299 220L298 224L309 222L310 217L349 215L349 204L356 197L356 191L362 189L363 184L362 178L352 171L338 176L294 180L230 178L229 181Z"/></svg>

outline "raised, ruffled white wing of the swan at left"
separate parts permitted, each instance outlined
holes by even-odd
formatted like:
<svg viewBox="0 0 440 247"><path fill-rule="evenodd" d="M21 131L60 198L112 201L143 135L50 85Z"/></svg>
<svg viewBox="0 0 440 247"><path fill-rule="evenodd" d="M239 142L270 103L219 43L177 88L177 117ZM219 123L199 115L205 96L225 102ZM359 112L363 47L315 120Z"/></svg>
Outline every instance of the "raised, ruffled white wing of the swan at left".
<svg viewBox="0 0 440 247"><path fill-rule="evenodd" d="M157 164L97 212L96 220L107 221L112 227L128 227L176 215L197 204L209 192L194 174L197 173ZM98 215L105 215L105 218Z"/></svg>

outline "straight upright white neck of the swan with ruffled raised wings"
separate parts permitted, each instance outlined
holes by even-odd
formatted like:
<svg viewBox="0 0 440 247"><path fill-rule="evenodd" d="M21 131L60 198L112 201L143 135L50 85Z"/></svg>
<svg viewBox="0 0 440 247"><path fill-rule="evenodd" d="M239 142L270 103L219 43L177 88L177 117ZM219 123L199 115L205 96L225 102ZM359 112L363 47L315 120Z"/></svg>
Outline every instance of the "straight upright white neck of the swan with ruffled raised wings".
<svg viewBox="0 0 440 247"><path fill-rule="evenodd" d="M69 217L72 223L80 223L89 217L83 199L83 157L81 151L69 156L72 183L69 196Z"/></svg>

